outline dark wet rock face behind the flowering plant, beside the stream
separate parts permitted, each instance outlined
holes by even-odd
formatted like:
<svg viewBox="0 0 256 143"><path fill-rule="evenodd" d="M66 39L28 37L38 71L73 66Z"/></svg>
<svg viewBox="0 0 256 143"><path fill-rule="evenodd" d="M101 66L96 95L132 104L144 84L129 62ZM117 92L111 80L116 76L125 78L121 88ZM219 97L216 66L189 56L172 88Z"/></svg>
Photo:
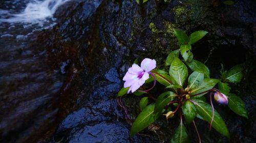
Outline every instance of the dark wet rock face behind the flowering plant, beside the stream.
<svg viewBox="0 0 256 143"><path fill-rule="evenodd" d="M240 5L247 6L244 3L245 1L239 2ZM155 48L155 39L151 31L148 30L148 24L154 21L162 30L163 20L174 20L174 14L168 11L177 5L179 3L175 1L165 6L165 10L158 11L157 7L161 5L154 1L149 1L143 7L128 1L96 1L96 4L93 1L82 2L77 5L70 17L59 23L50 34L47 34L50 39L47 41L49 54L60 59L60 61L55 61L57 63L55 65L59 68L58 63L70 60L72 66L67 69L70 78L67 79L68 82L61 91L62 97L59 101L61 105L59 115L63 120L58 125L57 131L52 136L48 136L49 140L46 142L60 140L64 142L77 142L78 140L104 142L106 141L104 137L109 142L116 142L117 138L122 142L140 142L142 138L145 138L145 136L139 135L129 138L130 125L126 123L123 112L117 108L115 97L122 87L122 77L134 60L134 55L141 59L144 56L150 58L160 56L158 55L160 49ZM230 10L228 6L222 7L224 10L219 10L221 12ZM239 7L239 9L240 15L247 13L242 8ZM236 9L229 11L229 13L236 12ZM248 20L233 17L234 19L239 18L238 25L242 26L228 24L229 22L226 22L224 26L216 25L215 28L218 31L216 34L214 33L214 36L221 41L218 46L229 46L226 49L219 48L208 59L207 65L213 70L212 77L218 78L220 63L226 54L232 52L232 56L227 59L228 62L224 63L228 67L234 66L234 63L240 64L242 59L245 60L245 50L250 49L253 41L252 33L248 28L253 21L251 17L253 15L251 12L249 13L245 14L250 16ZM230 15L236 16L236 14ZM225 20L232 21L231 19ZM167 39L161 38L162 45L167 46L166 41ZM203 44L207 45L208 43L203 42ZM199 48L193 51L194 55L201 56L199 59L207 61L205 52L210 52L209 49L205 49L205 45L197 46ZM231 49L231 46L236 48ZM242 58L239 60L237 56L242 56ZM73 74L73 68L78 70L76 74ZM252 104L253 102L249 101L248 105ZM218 108L224 120L227 121L232 137L239 135L238 138L241 141L253 140L254 136L246 135L243 123L254 125L254 122L245 121L230 110L221 109L222 107ZM251 112L253 109L249 108L248 110ZM135 111L131 115L137 115L137 113L138 111ZM120 120L117 122L118 115ZM228 116L238 122L232 123L233 120L230 120ZM204 142L218 142L219 140L229 142L215 130L208 131L208 124L198 122ZM188 130L191 133L191 138L197 136L193 126L188 126ZM172 132L168 135L172 135ZM153 139L146 137L146 142L158 140L157 136L152 134L151 138ZM193 142L197 141L193 138Z"/></svg>

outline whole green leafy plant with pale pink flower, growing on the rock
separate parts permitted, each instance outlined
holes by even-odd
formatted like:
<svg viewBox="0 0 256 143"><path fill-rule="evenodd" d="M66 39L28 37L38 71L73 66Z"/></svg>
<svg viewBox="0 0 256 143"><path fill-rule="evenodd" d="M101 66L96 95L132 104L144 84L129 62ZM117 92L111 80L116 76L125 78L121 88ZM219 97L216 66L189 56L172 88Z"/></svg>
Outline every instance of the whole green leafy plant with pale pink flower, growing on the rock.
<svg viewBox="0 0 256 143"><path fill-rule="evenodd" d="M139 102L141 113L132 125L131 136L150 126L161 115L164 115L166 120L174 116L180 118L180 124L171 142L189 142L184 123L193 123L196 127L195 118L207 121L210 124L210 129L213 127L219 133L229 137L229 131L223 119L214 109L212 98L214 97L219 104L228 104L232 111L248 118L243 101L230 93L231 88L229 87L229 83L241 81L243 65L234 66L228 71L222 69L221 79L210 78L209 69L203 63L194 60L191 51L191 44L202 39L207 32L196 31L187 36L182 30L174 29L174 34L180 43L180 48L170 52L167 56L165 66L169 66L169 71L155 69L156 61L146 58L141 62L141 66L137 65L138 61L136 60L123 78L124 88L120 90L118 97L130 92L136 96L143 96ZM183 60L179 59L180 53ZM155 87L156 81L165 87L159 96L153 96L150 93ZM152 82L154 82L153 87L145 90L143 84ZM218 89L214 88L216 84L218 84ZM205 96L209 96L210 104L206 103ZM174 108L174 110L170 110L170 108ZM198 134L198 136L200 140L200 135Z"/></svg>

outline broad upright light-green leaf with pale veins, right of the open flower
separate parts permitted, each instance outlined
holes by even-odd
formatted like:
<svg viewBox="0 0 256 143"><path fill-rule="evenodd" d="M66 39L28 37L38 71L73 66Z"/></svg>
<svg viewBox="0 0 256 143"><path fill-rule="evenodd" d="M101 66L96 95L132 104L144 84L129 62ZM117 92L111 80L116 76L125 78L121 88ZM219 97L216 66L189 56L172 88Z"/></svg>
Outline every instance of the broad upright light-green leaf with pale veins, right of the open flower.
<svg viewBox="0 0 256 143"><path fill-rule="evenodd" d="M188 76L187 67L183 62L180 61L179 58L174 58L174 61L170 65L169 74L170 77L176 81L176 83L183 86Z"/></svg>

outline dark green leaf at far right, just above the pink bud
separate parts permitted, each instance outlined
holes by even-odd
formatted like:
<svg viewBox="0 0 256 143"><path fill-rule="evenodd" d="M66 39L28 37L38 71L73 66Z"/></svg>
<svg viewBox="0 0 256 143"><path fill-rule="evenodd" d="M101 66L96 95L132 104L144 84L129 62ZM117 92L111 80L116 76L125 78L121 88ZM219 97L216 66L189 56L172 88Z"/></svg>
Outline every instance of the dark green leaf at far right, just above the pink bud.
<svg viewBox="0 0 256 143"><path fill-rule="evenodd" d="M240 82L243 77L243 70L244 70L243 64L232 67L230 70L227 71L227 74L223 78L224 81L233 82L233 83Z"/></svg>

